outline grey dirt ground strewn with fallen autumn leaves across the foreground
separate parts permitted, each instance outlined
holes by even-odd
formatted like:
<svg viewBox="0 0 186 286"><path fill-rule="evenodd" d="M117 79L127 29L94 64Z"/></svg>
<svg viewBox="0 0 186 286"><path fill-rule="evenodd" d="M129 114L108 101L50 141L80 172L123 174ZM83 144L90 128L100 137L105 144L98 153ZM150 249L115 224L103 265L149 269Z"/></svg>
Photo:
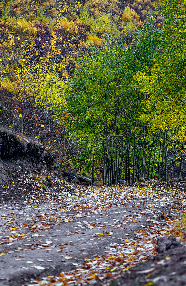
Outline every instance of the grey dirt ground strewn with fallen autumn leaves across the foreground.
<svg viewBox="0 0 186 286"><path fill-rule="evenodd" d="M1 192L0 286L186 285L185 192L58 178L39 191L19 175L29 188Z"/></svg>

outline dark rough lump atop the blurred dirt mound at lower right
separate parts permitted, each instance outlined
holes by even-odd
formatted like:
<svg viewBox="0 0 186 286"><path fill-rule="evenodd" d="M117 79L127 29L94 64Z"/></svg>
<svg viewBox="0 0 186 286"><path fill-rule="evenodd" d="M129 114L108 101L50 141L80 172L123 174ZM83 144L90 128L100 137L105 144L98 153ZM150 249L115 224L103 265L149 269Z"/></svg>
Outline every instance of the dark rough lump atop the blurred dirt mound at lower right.
<svg viewBox="0 0 186 286"><path fill-rule="evenodd" d="M163 253L168 249L178 247L180 243L175 239L174 236L161 237L157 240L157 252Z"/></svg>

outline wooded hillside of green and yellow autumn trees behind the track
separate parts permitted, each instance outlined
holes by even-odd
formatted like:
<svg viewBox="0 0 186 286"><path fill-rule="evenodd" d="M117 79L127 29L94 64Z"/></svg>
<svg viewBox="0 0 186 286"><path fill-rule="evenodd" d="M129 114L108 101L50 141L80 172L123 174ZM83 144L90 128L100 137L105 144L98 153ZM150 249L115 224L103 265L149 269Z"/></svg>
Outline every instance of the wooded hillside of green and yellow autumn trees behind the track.
<svg viewBox="0 0 186 286"><path fill-rule="evenodd" d="M184 1L1 2L0 25L2 126L103 184L185 175Z"/></svg>

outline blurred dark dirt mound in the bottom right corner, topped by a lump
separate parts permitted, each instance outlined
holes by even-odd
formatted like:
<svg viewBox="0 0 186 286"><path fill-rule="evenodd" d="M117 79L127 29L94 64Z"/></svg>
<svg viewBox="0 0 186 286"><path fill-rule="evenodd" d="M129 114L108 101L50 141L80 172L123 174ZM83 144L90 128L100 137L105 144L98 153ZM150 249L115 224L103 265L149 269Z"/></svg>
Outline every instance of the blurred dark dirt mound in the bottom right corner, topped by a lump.
<svg viewBox="0 0 186 286"><path fill-rule="evenodd" d="M186 244L180 244L174 237L159 239L160 253L145 263L140 263L132 272L111 283L111 286L186 285Z"/></svg>

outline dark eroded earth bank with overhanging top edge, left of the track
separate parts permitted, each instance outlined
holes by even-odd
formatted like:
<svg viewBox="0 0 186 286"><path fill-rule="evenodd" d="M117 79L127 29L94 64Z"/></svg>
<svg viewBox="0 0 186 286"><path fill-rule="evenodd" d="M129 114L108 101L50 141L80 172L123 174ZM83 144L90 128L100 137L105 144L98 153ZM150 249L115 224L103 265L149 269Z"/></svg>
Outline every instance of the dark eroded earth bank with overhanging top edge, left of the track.
<svg viewBox="0 0 186 286"><path fill-rule="evenodd" d="M56 151L56 150L55 150ZM46 188L74 192L71 186L58 178L52 163L56 152L5 129L0 129L0 197L1 203L19 200L23 193L33 190L45 194Z"/></svg>

